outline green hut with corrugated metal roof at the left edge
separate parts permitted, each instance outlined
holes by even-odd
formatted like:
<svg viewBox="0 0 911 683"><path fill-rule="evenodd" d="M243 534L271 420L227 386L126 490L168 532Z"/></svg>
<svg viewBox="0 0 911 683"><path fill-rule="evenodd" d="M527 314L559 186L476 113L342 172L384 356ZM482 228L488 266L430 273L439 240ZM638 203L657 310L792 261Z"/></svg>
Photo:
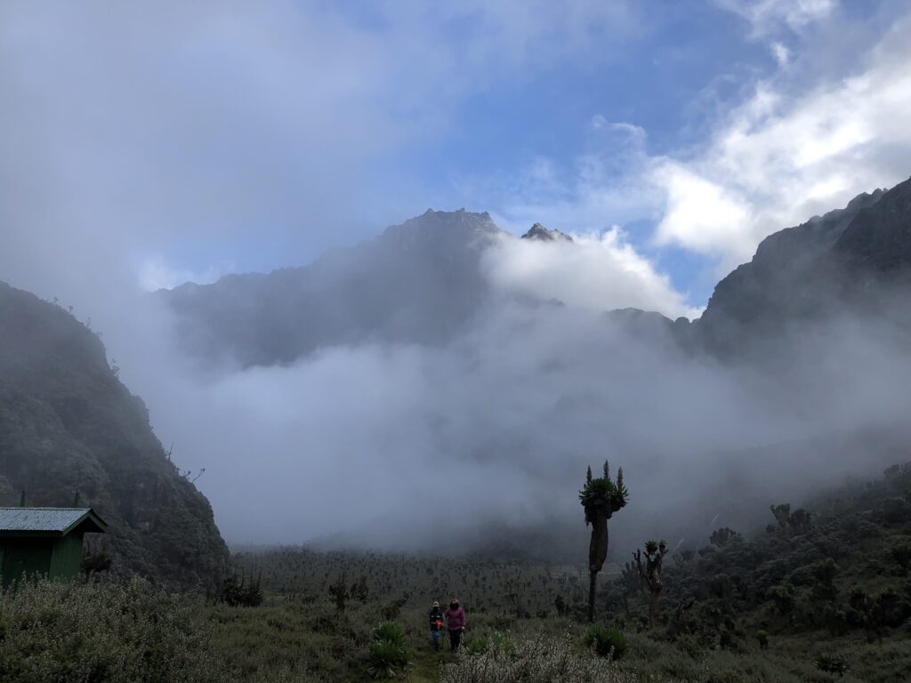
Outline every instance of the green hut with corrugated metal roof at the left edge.
<svg viewBox="0 0 911 683"><path fill-rule="evenodd" d="M90 507L0 507L3 587L26 574L73 578L82 561L82 537L107 525Z"/></svg>

